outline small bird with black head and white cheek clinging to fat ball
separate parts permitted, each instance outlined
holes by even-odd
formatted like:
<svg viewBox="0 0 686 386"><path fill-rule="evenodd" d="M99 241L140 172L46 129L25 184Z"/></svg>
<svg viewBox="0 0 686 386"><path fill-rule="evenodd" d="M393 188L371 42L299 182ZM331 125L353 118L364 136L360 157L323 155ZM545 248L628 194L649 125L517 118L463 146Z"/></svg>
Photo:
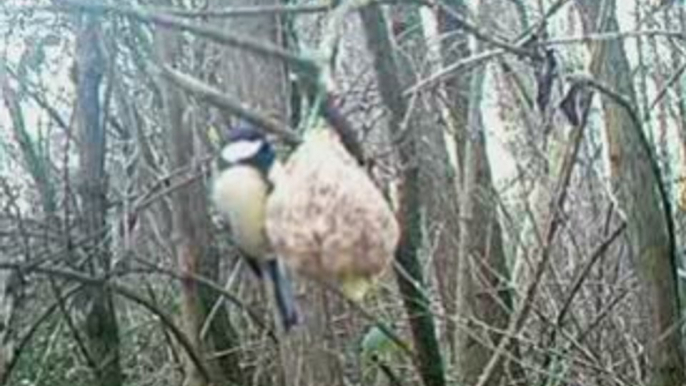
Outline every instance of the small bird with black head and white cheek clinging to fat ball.
<svg viewBox="0 0 686 386"><path fill-rule="evenodd" d="M299 322L299 313L286 267L273 253L265 233L269 178L279 161L273 145L255 126L233 127L221 149L212 178L211 201L229 224L233 241L260 279L272 281L277 310L285 331Z"/></svg>

